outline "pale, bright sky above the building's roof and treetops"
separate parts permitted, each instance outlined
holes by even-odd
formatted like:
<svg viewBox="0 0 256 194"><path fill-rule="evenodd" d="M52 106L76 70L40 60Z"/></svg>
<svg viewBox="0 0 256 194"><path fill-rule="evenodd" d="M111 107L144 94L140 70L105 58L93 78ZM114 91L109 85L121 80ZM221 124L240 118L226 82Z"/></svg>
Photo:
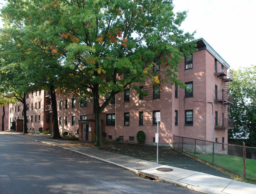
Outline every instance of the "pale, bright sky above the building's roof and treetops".
<svg viewBox="0 0 256 194"><path fill-rule="evenodd" d="M256 64L256 0L173 0L173 4L175 13L188 11L180 28L196 30L194 37L204 38L230 68Z"/></svg>

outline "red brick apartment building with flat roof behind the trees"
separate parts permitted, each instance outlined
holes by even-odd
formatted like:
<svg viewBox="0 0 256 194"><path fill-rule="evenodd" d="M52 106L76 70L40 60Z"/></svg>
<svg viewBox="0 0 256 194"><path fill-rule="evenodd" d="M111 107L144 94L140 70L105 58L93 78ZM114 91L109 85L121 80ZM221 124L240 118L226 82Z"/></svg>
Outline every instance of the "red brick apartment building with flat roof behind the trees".
<svg viewBox="0 0 256 194"><path fill-rule="evenodd" d="M202 38L197 40L198 51L178 64L178 78L187 89L163 84L163 91L153 88L148 80L139 85L148 96L141 98L127 88L108 105L102 113L102 131L105 139L120 137L125 141L137 142L136 134L144 131L146 143L155 141L156 112L161 113L159 143L172 144L173 135L227 143L228 129L233 127L228 119L228 105L233 103L228 94L230 66ZM160 69L161 67L158 67ZM153 89L155 92L153 92ZM71 98L56 94L58 105L59 131L76 134L80 127L80 140L94 139L93 104L79 102L79 97ZM50 95L47 91L32 91L28 94L28 131L38 131L39 127L52 131L52 111ZM9 104L9 126L22 119L22 105ZM90 130L91 129L91 130Z"/></svg>

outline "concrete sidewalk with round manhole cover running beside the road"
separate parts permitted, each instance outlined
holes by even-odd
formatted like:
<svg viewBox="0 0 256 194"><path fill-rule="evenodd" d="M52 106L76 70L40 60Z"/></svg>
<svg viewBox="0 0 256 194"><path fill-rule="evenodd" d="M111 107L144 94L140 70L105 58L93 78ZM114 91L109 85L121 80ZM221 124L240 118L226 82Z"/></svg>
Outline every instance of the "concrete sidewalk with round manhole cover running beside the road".
<svg viewBox="0 0 256 194"><path fill-rule="evenodd" d="M234 181L232 179L213 176L210 174L186 170L174 166L156 164L154 162L136 159L120 155L118 153L106 152L93 147L83 146L82 143L72 140L52 139L49 135L29 134L13 132L0 132L0 134L15 135L28 138L46 144L58 146L73 152L77 152L95 159L120 166L136 174L145 174L160 181L187 187L198 192L208 194L253 194L256 193L256 185Z"/></svg>

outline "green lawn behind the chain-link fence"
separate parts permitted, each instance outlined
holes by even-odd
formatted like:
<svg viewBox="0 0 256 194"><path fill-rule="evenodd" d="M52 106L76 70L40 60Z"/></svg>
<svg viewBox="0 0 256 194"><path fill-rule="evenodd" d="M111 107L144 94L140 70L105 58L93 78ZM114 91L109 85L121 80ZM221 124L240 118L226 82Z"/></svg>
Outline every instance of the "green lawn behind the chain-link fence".
<svg viewBox="0 0 256 194"><path fill-rule="evenodd" d="M204 161L212 163L212 153L200 154L196 153L195 157L198 157ZM246 177L256 179L256 160L246 158ZM226 155L226 154L214 154L214 164L243 175L243 158Z"/></svg>

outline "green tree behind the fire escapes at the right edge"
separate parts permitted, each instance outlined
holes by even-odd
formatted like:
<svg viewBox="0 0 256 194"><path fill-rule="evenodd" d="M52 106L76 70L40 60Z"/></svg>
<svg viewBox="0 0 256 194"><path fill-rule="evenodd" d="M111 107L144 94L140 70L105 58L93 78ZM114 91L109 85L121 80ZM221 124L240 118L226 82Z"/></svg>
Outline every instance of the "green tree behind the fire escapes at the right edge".
<svg viewBox="0 0 256 194"><path fill-rule="evenodd" d="M234 129L228 131L228 137L249 138L250 146L256 146L256 65L233 72L229 87L234 96L234 106L230 107Z"/></svg>

